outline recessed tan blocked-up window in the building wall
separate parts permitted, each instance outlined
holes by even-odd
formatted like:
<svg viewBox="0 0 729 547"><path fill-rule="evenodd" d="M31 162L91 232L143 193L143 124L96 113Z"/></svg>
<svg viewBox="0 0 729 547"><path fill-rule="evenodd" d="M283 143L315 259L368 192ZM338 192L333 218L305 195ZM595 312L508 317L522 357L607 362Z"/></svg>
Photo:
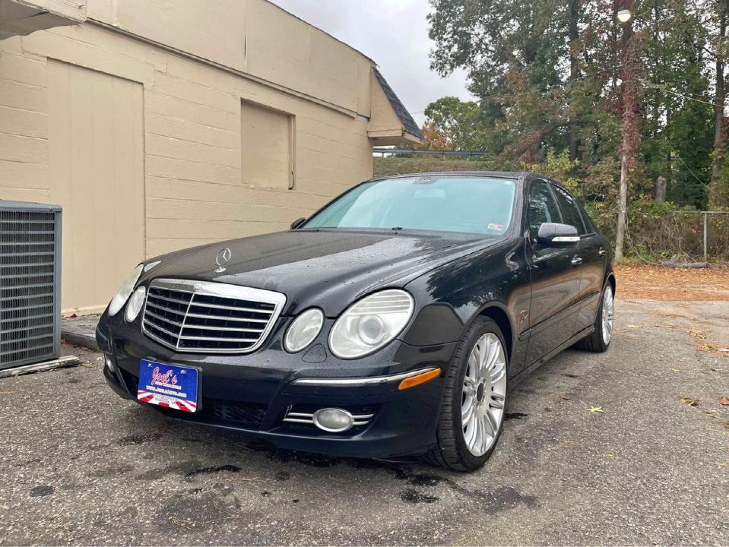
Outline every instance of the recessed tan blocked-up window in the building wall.
<svg viewBox="0 0 729 547"><path fill-rule="evenodd" d="M241 178L243 184L294 187L294 124L291 114L241 102Z"/></svg>

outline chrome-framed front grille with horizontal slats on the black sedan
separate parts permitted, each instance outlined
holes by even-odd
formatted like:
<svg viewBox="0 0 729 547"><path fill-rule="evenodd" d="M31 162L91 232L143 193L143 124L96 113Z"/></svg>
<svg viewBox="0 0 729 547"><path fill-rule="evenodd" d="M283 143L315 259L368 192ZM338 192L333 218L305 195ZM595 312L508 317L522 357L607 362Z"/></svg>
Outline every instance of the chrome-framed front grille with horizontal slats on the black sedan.
<svg viewBox="0 0 729 547"><path fill-rule="evenodd" d="M286 296L258 288L157 279L147 290L142 331L176 351L250 353L265 342Z"/></svg>

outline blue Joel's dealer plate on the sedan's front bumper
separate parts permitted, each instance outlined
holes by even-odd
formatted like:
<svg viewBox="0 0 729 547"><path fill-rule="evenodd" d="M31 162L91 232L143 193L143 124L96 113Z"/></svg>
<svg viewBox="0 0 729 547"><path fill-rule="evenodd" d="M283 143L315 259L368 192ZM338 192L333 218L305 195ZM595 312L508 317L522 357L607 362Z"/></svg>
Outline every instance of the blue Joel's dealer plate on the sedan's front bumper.
<svg viewBox="0 0 729 547"><path fill-rule="evenodd" d="M142 359L137 398L168 409L195 412L198 409L198 369Z"/></svg>

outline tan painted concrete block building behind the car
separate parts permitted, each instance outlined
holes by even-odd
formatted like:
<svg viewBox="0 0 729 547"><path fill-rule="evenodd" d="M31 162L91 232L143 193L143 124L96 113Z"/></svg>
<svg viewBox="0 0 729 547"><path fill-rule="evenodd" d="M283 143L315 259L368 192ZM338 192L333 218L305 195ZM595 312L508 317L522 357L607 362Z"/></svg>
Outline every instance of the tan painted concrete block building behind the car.
<svg viewBox="0 0 729 547"><path fill-rule="evenodd" d="M373 60L266 0L0 0L0 200L63 206L66 312L420 139Z"/></svg>

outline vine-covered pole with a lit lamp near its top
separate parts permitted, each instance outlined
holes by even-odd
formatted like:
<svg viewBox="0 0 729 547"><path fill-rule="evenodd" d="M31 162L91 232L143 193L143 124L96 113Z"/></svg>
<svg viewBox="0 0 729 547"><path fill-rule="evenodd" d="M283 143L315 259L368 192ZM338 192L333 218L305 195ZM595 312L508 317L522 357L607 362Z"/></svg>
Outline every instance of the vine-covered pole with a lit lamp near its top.
<svg viewBox="0 0 729 547"><path fill-rule="evenodd" d="M627 224L628 170L633 165L639 135L636 112L636 82L634 78L636 44L633 32L633 0L623 0L617 20L623 25L622 85L623 115L620 119L620 192L618 197L617 229L615 231L615 260L623 259L623 243Z"/></svg>

